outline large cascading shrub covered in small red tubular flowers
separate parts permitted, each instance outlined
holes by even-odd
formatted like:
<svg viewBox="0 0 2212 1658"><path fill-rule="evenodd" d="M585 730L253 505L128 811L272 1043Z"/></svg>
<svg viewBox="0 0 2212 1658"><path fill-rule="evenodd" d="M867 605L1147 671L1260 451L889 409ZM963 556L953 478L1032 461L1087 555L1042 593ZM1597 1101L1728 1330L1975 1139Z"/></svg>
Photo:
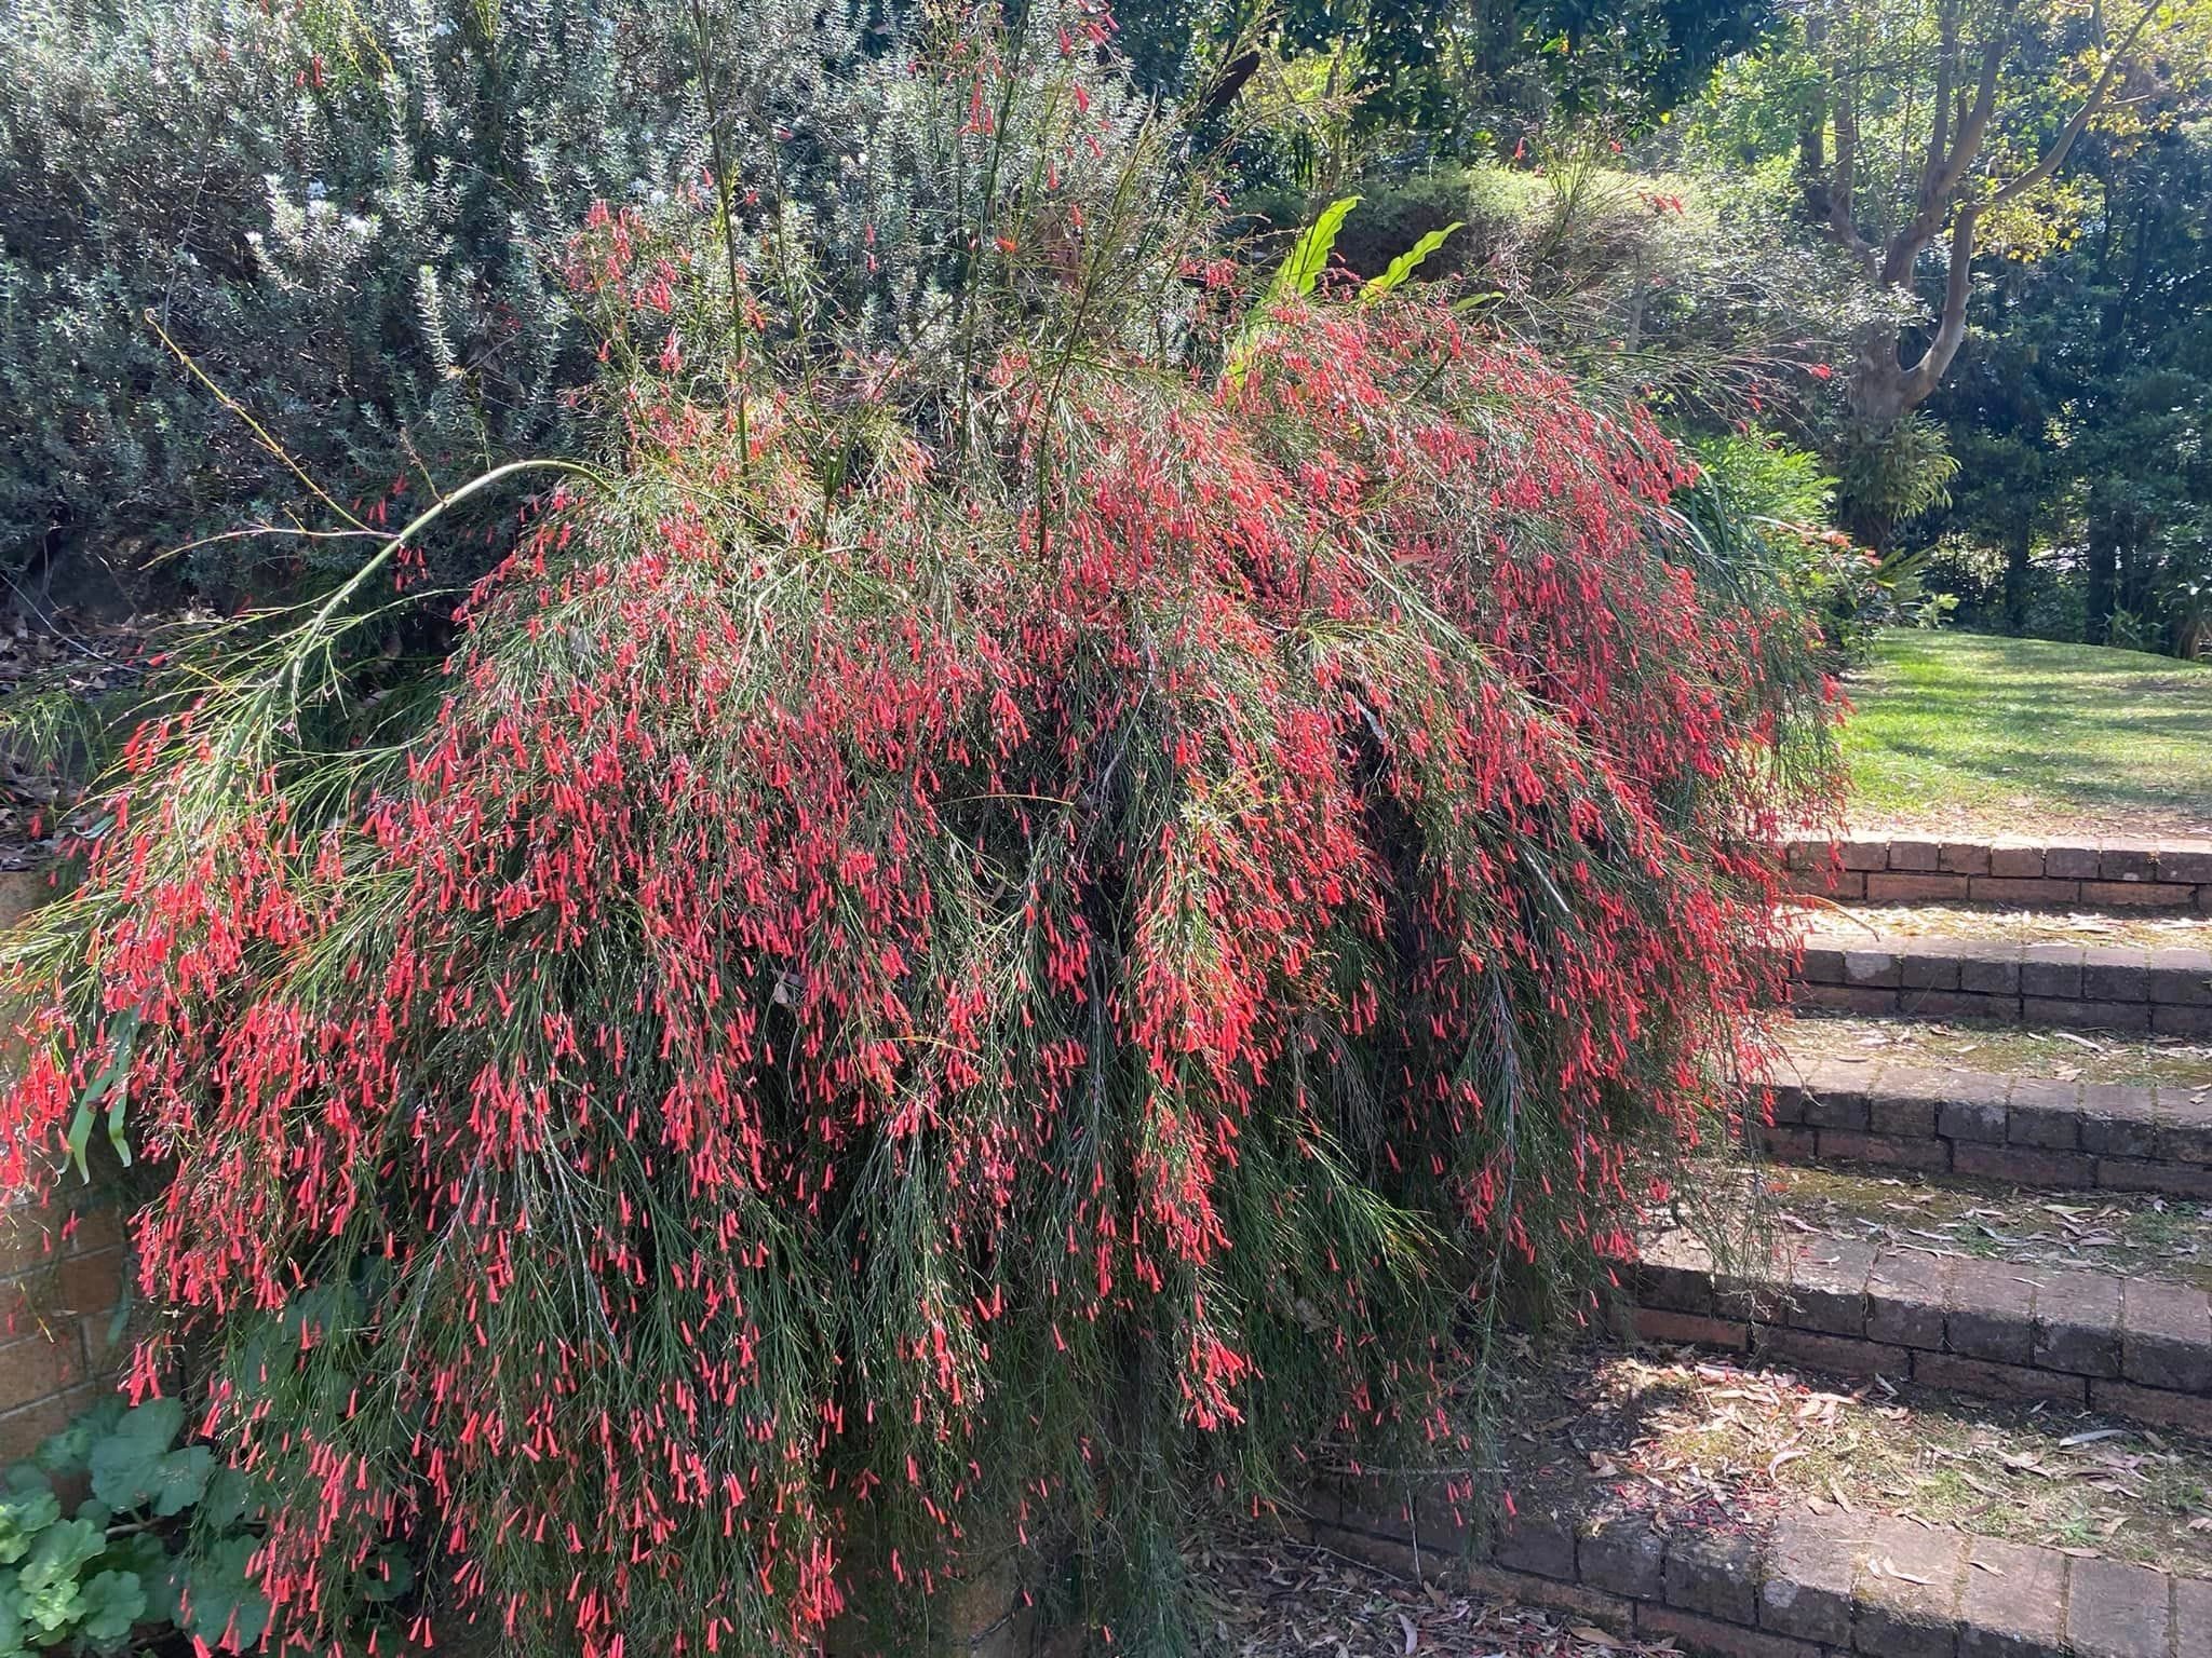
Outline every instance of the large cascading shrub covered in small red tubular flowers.
<svg viewBox="0 0 2212 1658"><path fill-rule="evenodd" d="M834 197L593 214L604 440L445 672L356 643L416 524L44 911L7 1183L161 1174L131 1386L276 1640L407 1565L414 1636L907 1649L1013 1559L1172 1651L1188 1503L1467 1461L1493 1322L1728 1138L1803 619L1444 301L1237 316L1099 18L995 18Z"/></svg>

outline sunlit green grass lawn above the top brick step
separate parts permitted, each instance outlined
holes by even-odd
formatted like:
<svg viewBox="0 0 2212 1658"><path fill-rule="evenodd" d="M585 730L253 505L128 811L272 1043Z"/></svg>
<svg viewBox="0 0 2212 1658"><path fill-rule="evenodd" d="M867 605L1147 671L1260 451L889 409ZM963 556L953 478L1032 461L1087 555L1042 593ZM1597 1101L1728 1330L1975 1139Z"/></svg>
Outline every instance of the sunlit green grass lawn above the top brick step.
<svg viewBox="0 0 2212 1658"><path fill-rule="evenodd" d="M1856 827L2212 836L2212 665L1887 632L1849 692Z"/></svg>

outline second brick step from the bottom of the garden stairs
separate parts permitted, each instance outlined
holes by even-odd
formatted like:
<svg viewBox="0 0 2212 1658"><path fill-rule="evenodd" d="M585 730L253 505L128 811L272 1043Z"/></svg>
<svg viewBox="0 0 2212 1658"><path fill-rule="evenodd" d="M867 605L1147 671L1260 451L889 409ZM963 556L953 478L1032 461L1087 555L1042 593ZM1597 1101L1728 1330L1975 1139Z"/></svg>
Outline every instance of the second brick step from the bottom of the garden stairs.
<svg viewBox="0 0 2212 1658"><path fill-rule="evenodd" d="M1845 1238L1745 1282L1666 1231L1644 1242L1630 1318L1644 1340L2212 1435L2212 1298L2183 1284Z"/></svg>

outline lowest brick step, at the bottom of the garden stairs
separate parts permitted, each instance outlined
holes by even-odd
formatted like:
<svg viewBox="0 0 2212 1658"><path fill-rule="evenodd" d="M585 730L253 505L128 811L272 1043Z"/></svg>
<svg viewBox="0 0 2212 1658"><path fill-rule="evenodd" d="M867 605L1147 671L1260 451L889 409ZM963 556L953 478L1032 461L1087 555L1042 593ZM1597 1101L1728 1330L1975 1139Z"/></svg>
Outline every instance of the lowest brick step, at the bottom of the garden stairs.
<svg viewBox="0 0 2212 1658"><path fill-rule="evenodd" d="M1409 1512L1411 1508L1411 1512ZM1783 1510L1750 1530L1522 1512L1469 1554L1440 1497L1354 1488L1314 1541L1413 1578L1719 1658L2205 1658L2212 1581L1882 1514Z"/></svg>

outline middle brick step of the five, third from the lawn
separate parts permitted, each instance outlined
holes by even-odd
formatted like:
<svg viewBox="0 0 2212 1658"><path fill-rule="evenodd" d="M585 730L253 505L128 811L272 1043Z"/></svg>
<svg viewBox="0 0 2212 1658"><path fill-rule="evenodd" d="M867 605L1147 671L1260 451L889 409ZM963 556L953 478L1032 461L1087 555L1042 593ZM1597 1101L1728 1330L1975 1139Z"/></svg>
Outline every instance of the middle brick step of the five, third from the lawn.
<svg viewBox="0 0 2212 1658"><path fill-rule="evenodd" d="M1805 1061L1756 1130L1785 1163L2212 1198L2212 1092Z"/></svg>

